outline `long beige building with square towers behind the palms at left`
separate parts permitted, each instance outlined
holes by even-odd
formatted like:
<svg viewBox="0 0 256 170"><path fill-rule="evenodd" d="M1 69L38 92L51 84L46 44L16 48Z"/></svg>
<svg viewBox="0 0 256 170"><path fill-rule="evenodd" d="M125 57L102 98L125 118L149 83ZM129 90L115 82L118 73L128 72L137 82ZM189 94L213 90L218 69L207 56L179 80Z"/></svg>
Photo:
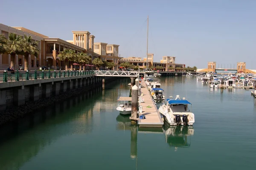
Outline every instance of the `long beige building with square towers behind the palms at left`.
<svg viewBox="0 0 256 170"><path fill-rule="evenodd" d="M15 33L22 37L24 35L31 36L32 40L38 42L40 54L38 57L29 55L29 70L39 69L43 66L53 69L64 69L64 61L60 61L58 57L58 54L63 51L64 48L73 49L76 53L87 53L92 60L98 57L102 60L114 62L116 64L115 68L117 69L118 67L118 59L120 58L118 57L119 45L108 45L100 42L94 43L95 36L90 35L89 31L72 31L73 40L65 41L59 38L50 38L27 28L10 27L0 24L0 34L3 34L6 38L8 38L9 33ZM10 66L10 62L10 54L0 54L0 70L7 69ZM69 67L71 66L72 63L69 62ZM19 67L24 68L24 56L22 55L16 55L15 57L15 69L19 69Z"/></svg>

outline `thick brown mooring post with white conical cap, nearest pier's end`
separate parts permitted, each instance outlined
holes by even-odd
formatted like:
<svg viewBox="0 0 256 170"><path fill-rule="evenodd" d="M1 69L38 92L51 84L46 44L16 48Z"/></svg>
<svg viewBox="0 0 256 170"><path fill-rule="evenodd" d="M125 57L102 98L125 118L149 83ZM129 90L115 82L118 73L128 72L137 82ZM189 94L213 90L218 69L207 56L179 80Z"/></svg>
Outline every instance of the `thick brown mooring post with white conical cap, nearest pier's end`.
<svg viewBox="0 0 256 170"><path fill-rule="evenodd" d="M138 117L138 87L134 85L131 88L131 118ZM131 120L131 124L136 124L137 120Z"/></svg>

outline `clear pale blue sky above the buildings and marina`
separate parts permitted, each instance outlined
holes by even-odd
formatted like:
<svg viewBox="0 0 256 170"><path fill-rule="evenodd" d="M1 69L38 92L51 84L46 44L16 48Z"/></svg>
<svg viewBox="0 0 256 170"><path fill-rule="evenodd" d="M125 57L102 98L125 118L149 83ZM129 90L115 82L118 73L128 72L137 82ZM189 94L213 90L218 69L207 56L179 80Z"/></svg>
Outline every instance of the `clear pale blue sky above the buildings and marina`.
<svg viewBox="0 0 256 170"><path fill-rule="evenodd" d="M122 57L206 68L246 62L256 69L256 0L2 0L0 23L22 26L49 37L72 40L90 31L95 42L118 44Z"/></svg>

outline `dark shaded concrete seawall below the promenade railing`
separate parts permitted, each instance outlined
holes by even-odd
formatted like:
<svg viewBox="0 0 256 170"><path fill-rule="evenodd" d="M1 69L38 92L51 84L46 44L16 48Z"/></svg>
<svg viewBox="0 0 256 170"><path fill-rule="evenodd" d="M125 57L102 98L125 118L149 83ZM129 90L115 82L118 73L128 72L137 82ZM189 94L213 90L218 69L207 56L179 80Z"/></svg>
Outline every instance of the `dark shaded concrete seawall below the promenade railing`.
<svg viewBox="0 0 256 170"><path fill-rule="evenodd" d="M0 83L0 125L51 105L53 102L102 88L102 79L105 79L108 86L108 83L117 78L87 75Z"/></svg>

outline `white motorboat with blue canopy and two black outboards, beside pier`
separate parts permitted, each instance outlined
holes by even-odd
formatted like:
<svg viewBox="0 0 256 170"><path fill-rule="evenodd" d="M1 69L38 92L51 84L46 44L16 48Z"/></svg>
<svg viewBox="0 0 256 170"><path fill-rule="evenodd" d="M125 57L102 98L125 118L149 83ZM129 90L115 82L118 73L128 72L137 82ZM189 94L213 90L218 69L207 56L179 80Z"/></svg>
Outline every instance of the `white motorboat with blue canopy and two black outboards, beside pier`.
<svg viewBox="0 0 256 170"><path fill-rule="evenodd" d="M163 118L170 125L193 125L195 122L195 115L189 109L192 105L185 98L180 99L177 95L175 99L167 99L166 104L160 106L158 109Z"/></svg>

